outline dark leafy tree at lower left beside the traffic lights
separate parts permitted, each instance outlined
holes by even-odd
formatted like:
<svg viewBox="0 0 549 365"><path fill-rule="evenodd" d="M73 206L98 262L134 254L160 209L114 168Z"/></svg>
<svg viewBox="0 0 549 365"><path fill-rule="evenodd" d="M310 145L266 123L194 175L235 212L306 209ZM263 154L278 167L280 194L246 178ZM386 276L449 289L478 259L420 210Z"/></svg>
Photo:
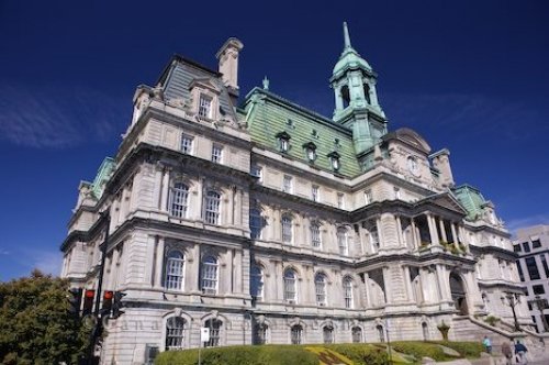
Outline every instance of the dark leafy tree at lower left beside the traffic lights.
<svg viewBox="0 0 549 365"><path fill-rule="evenodd" d="M69 312L68 281L34 270L0 283L0 363L75 364L87 330Z"/></svg>

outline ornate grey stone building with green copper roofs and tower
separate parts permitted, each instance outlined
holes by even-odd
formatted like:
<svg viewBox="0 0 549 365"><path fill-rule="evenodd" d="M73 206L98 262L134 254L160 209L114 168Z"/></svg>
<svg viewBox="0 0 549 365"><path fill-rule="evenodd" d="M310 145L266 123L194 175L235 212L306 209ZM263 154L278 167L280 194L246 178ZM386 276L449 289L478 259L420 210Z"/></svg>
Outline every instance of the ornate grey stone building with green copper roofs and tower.
<svg viewBox="0 0 549 365"><path fill-rule="evenodd" d="M329 79L330 118L262 87L239 101L243 44L219 70L175 56L135 91L114 158L82 181L63 276L124 290L103 363L250 343L478 339L488 314L531 320L494 207L456 185L450 153L390 130L378 75L351 46Z"/></svg>

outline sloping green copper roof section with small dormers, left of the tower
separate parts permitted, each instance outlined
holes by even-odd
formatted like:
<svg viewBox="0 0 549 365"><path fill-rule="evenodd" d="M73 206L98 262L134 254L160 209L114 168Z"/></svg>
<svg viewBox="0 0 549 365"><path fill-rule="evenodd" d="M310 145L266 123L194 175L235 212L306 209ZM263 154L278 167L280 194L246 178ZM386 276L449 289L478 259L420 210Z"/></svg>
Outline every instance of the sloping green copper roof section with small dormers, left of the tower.
<svg viewBox="0 0 549 365"><path fill-rule="evenodd" d="M305 147L316 147L316 159L311 165L334 172L329 155L337 152L338 174L360 174L352 147L351 131L323 115L302 108L265 89L254 88L244 104L251 141L266 150L310 164ZM280 151L280 136L290 137L290 150Z"/></svg>

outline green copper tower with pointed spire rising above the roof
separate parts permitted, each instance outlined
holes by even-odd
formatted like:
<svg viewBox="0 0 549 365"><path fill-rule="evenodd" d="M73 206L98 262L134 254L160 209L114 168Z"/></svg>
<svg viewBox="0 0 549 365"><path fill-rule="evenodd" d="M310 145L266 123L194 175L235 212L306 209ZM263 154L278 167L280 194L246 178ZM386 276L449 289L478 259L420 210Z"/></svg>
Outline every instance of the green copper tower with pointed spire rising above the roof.
<svg viewBox="0 0 549 365"><path fill-rule="evenodd" d="M350 44L344 22L344 51L329 79L336 107L334 121L352 130L355 153L372 148L386 134L386 119L376 92L377 74Z"/></svg>

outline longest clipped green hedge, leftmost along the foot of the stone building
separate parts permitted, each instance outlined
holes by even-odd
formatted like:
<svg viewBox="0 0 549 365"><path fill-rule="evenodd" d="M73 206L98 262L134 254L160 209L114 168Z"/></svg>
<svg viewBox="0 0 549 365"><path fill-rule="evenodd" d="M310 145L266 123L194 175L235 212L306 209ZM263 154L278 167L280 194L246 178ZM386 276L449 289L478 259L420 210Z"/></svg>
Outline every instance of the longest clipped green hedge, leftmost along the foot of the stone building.
<svg viewBox="0 0 549 365"><path fill-rule="evenodd" d="M301 346L227 346L202 349L202 365L318 365L318 357ZM195 365L199 351L166 351L158 355L156 365Z"/></svg>

